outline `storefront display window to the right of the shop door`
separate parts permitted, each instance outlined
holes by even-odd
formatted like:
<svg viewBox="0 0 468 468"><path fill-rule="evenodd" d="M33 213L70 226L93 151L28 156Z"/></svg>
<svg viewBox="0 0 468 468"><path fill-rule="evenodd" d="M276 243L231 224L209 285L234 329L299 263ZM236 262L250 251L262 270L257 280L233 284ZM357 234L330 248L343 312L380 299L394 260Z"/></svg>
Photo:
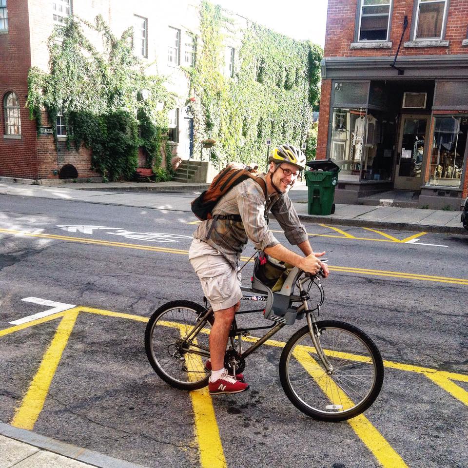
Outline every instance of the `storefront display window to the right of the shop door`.
<svg viewBox="0 0 468 468"><path fill-rule="evenodd" d="M468 117L435 117L427 185L460 188Z"/></svg>

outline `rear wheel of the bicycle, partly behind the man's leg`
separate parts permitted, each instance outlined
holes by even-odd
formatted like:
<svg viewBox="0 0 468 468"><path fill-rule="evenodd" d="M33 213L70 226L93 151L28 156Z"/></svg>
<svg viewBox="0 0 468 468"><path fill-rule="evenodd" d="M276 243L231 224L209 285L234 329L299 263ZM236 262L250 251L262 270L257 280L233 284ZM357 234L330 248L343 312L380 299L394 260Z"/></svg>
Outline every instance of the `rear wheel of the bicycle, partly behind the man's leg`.
<svg viewBox="0 0 468 468"><path fill-rule="evenodd" d="M185 338L206 309L192 301L171 301L160 306L150 317L145 331L145 351L155 372L166 383L182 390L198 390L208 385L210 372L204 358L181 351L177 342ZM206 321L206 327L210 327ZM198 332L193 350L209 352L209 333ZM200 342L198 342L200 341Z"/></svg>

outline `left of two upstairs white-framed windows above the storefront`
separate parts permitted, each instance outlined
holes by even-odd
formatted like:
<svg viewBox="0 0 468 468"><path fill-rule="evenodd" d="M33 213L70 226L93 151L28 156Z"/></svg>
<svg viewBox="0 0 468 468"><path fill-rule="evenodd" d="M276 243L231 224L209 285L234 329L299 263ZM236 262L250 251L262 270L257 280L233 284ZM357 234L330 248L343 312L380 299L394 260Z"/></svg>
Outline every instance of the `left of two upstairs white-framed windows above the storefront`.
<svg viewBox="0 0 468 468"><path fill-rule="evenodd" d="M360 0L358 40L388 40L391 0Z"/></svg>

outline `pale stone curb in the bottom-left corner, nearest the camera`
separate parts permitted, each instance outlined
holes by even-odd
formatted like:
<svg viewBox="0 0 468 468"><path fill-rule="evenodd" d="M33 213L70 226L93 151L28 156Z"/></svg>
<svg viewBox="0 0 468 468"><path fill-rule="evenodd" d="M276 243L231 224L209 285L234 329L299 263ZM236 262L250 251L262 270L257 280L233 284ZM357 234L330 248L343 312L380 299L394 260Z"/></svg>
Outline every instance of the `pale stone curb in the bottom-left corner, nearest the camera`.
<svg viewBox="0 0 468 468"><path fill-rule="evenodd" d="M24 444L40 448L52 453L57 453L72 460L77 460L81 463L86 463L97 468L145 468L142 465L119 460L117 458L103 455L102 453L88 450L86 448L77 447L75 445L66 444L58 440L37 434L36 432L18 429L5 423L0 422L0 434L10 439L17 440Z"/></svg>

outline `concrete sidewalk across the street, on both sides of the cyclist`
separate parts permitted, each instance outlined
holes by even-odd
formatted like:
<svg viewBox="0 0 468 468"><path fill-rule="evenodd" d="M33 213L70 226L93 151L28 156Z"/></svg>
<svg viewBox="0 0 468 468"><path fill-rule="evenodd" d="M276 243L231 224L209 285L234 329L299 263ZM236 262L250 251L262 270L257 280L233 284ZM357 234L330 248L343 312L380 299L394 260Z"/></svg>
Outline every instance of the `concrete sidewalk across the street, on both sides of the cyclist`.
<svg viewBox="0 0 468 468"><path fill-rule="evenodd" d="M124 205L190 212L190 201L207 184L180 182L114 182L56 185L26 185L0 178L0 194L36 196L107 205ZM156 195L156 192L158 193ZM172 192L171 195L167 193ZM424 210L393 206L336 205L333 215L308 215L307 187L298 182L290 193L299 217L304 221L346 226L378 227L405 231L468 234L460 221L461 211Z"/></svg>

